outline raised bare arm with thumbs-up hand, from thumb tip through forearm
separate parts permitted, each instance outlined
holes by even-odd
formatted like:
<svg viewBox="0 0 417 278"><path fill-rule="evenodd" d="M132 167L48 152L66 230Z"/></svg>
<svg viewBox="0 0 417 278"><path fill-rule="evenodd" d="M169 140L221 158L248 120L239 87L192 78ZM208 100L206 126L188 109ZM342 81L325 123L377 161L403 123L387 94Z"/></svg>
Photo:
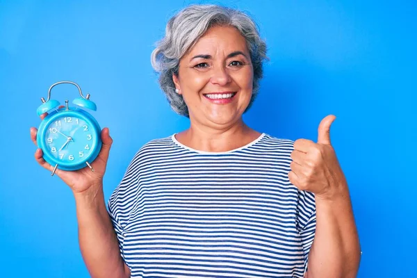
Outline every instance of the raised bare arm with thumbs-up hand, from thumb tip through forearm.
<svg viewBox="0 0 417 278"><path fill-rule="evenodd" d="M328 115L318 126L317 143L299 139L288 177L297 188L314 193L316 231L309 252L309 277L356 277L360 261L347 181L330 143Z"/></svg>

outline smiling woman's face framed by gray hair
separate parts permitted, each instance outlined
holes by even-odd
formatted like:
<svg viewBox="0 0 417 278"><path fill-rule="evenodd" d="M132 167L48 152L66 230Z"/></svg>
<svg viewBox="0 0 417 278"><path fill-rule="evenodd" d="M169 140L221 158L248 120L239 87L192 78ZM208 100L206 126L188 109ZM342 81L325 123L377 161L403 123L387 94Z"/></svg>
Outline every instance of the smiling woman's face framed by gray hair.
<svg viewBox="0 0 417 278"><path fill-rule="evenodd" d="M179 62L172 76L188 106L190 120L227 128L250 103L253 67L246 40L231 26L213 26Z"/></svg>

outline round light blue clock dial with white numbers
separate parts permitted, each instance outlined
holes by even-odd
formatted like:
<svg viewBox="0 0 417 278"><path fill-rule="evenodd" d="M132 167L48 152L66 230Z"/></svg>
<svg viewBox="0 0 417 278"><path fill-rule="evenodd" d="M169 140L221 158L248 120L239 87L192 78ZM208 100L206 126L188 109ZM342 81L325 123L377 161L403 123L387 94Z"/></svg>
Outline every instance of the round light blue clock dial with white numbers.
<svg viewBox="0 0 417 278"><path fill-rule="evenodd" d="M45 127L45 151L58 165L85 163L96 147L96 134L94 124L83 117L55 117Z"/></svg>

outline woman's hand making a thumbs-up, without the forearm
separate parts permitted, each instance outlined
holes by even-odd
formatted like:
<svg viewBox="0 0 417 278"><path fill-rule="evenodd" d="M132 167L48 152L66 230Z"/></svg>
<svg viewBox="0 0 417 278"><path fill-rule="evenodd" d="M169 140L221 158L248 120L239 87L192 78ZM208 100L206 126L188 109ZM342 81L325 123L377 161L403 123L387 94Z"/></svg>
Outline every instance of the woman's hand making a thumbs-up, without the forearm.
<svg viewBox="0 0 417 278"><path fill-rule="evenodd" d="M332 199L345 192L347 182L330 142L330 126L336 117L328 115L318 126L318 140L298 139L291 153L291 171L288 178L300 190L314 193L323 199Z"/></svg>

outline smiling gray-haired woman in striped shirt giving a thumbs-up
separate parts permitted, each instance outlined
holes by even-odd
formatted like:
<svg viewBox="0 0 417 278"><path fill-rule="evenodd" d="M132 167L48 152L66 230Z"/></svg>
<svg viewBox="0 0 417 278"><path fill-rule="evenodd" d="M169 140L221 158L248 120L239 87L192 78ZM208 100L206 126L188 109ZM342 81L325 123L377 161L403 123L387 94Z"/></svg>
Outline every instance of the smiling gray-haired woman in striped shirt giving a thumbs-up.
<svg viewBox="0 0 417 278"><path fill-rule="evenodd" d="M334 116L320 123L318 142L274 138L242 120L265 49L237 10L189 6L170 19L152 65L189 129L140 149L108 211L107 128L95 172L56 172L74 193L92 277L356 276L359 240L329 139ZM51 170L40 149L35 158Z"/></svg>

